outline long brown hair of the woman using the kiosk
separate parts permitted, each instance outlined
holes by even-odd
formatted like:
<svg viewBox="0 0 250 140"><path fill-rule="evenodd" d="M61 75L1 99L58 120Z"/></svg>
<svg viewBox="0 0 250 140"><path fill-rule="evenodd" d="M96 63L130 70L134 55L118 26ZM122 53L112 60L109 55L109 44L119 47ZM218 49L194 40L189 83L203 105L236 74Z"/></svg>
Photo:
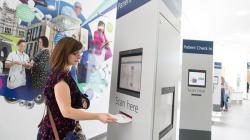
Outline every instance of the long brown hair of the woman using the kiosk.
<svg viewBox="0 0 250 140"><path fill-rule="evenodd" d="M50 57L52 71L64 71L65 66L68 64L69 55L81 50L82 47L79 41L71 37L61 39L53 49Z"/></svg>

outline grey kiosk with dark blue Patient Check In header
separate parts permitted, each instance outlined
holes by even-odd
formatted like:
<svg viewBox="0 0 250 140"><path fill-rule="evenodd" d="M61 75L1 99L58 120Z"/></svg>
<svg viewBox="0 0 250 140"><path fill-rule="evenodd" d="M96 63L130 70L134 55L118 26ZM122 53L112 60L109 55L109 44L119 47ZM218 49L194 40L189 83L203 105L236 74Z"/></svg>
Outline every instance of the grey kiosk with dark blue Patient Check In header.
<svg viewBox="0 0 250 140"><path fill-rule="evenodd" d="M211 140L213 41L183 40L179 140Z"/></svg>

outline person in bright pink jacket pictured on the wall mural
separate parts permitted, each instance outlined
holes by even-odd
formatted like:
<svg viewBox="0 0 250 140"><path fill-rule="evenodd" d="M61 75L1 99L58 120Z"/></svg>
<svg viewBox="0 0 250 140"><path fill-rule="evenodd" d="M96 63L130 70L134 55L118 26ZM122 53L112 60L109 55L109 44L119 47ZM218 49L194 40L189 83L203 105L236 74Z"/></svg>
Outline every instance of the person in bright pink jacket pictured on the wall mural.
<svg viewBox="0 0 250 140"><path fill-rule="evenodd" d="M97 30L94 32L93 44L96 46L96 54L102 55L102 51L105 50L105 60L112 57L112 52L109 47L109 41L105 35L105 23L103 21L98 22Z"/></svg>

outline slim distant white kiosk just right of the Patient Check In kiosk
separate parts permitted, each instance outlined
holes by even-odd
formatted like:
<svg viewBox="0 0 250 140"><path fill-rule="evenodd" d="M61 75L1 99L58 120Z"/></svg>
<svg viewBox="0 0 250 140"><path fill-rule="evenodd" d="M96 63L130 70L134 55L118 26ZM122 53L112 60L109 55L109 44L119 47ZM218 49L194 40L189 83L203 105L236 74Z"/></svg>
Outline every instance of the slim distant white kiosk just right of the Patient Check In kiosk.
<svg viewBox="0 0 250 140"><path fill-rule="evenodd" d="M213 111L220 112L221 103L221 62L214 62L214 76L213 76Z"/></svg>

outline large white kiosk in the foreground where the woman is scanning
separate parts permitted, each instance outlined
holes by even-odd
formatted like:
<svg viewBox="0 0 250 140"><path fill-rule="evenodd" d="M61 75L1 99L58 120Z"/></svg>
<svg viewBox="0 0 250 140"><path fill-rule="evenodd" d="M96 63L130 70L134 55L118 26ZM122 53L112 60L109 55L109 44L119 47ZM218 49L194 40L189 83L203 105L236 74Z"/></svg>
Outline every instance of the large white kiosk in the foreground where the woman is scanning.
<svg viewBox="0 0 250 140"><path fill-rule="evenodd" d="M118 0L109 112L127 119L109 124L108 140L176 138L180 7Z"/></svg>

